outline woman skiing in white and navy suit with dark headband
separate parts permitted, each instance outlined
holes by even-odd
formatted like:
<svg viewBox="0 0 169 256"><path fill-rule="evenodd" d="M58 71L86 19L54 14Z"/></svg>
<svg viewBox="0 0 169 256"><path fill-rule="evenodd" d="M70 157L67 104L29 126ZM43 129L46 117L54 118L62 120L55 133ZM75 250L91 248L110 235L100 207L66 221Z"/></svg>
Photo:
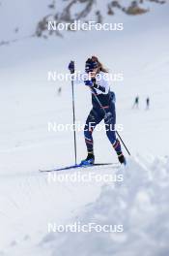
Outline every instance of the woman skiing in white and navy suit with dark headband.
<svg viewBox="0 0 169 256"><path fill-rule="evenodd" d="M70 62L70 73L74 73L74 63ZM85 72L89 74L89 80L84 80L85 85L89 86L92 92L93 109L89 113L85 129L84 137L87 146L88 155L85 160L81 161L82 165L93 165L95 163L93 131L99 122L104 119L106 135L114 147L119 162L126 165L126 158L122 152L121 144L116 138L115 123L115 94L110 91L108 81L105 79L107 72L99 62L98 57L92 56L88 58L85 65Z"/></svg>

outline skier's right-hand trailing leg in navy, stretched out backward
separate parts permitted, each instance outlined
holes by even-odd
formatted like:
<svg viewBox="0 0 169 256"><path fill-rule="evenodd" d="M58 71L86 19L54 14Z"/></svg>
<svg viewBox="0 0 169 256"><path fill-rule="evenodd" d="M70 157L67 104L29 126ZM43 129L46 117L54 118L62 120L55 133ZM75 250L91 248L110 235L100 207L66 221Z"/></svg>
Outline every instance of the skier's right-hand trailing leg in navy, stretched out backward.
<svg viewBox="0 0 169 256"><path fill-rule="evenodd" d="M115 124L116 124L116 110L115 110L115 104L111 103L109 109L106 110L106 118L104 118L105 123L105 129L106 129L106 135L112 144L113 148L115 149L119 161L121 163L126 164L126 159L124 157L124 154L122 152L122 147L120 141L116 138L116 130L115 130Z"/></svg>

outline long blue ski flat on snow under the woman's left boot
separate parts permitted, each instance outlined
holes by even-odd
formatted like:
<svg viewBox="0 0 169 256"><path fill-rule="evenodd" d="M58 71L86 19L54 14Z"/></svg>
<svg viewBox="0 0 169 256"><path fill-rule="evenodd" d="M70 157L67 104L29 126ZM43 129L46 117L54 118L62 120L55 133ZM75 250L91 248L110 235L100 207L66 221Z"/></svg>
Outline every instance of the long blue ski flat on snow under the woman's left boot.
<svg viewBox="0 0 169 256"><path fill-rule="evenodd" d="M59 172L59 171L67 171L71 169L78 169L78 168L92 168L92 167L97 167L97 166L110 166L113 165L115 167L119 167L118 163L97 163L93 165L72 165L72 166L67 166L63 168L58 168L58 169L50 169L50 170L39 170L42 173L50 173L50 172Z"/></svg>

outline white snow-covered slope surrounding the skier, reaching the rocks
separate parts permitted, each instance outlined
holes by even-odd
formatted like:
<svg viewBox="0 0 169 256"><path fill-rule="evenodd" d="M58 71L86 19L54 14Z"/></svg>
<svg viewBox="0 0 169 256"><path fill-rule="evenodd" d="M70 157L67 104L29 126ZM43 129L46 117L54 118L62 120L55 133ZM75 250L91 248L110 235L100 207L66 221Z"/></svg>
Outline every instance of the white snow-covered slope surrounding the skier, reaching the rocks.
<svg viewBox="0 0 169 256"><path fill-rule="evenodd" d="M24 4L20 10L29 16L33 9L33 20L45 14L44 7L41 13L37 6L36 15L31 1L26 10ZM168 4L153 4L144 16L114 16L113 22L124 22L123 32L67 33L64 39L30 39L0 48L0 255L168 255L168 12ZM23 25L28 34L33 20ZM11 29L12 20L11 26L6 22ZM2 37L7 35L2 27ZM66 73L70 59L83 70L91 54L99 55L111 71L124 72L125 80L112 83L112 89L117 94L117 122L124 126L121 134L132 156L126 169L56 175L123 175L123 182L54 182L39 169L73 162L72 133L48 132L48 122L72 122L71 88L69 82L47 81L47 72ZM131 110L137 94L140 108ZM150 111L145 110L147 96ZM88 89L76 85L76 118L81 123L90 100ZM117 162L103 131L94 137L97 161ZM86 155L82 131L77 149L80 161ZM49 222L75 221L123 224L124 232L48 234Z"/></svg>

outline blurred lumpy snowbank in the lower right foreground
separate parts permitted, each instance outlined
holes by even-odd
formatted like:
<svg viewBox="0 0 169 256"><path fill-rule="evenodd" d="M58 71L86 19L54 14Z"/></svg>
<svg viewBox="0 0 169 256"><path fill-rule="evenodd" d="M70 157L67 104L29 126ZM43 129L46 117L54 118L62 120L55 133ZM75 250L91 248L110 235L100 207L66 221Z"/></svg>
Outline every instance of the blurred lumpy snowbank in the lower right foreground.
<svg viewBox="0 0 169 256"><path fill-rule="evenodd" d="M139 161L139 157L130 160L123 172L124 183L102 186L96 202L75 218L83 224L124 223L123 234L47 235L40 245L46 250L52 247L51 255L57 251L73 255L75 250L75 255L82 256L167 256L169 161Z"/></svg>

